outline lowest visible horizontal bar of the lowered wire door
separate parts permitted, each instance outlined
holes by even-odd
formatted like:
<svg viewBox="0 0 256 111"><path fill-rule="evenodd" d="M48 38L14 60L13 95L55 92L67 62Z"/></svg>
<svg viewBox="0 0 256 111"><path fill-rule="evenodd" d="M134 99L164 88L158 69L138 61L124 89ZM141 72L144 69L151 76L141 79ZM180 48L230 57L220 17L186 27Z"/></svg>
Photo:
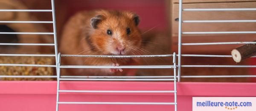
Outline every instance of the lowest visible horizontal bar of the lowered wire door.
<svg viewBox="0 0 256 111"><path fill-rule="evenodd" d="M176 105L177 103L149 103L149 102L57 102L57 104Z"/></svg>

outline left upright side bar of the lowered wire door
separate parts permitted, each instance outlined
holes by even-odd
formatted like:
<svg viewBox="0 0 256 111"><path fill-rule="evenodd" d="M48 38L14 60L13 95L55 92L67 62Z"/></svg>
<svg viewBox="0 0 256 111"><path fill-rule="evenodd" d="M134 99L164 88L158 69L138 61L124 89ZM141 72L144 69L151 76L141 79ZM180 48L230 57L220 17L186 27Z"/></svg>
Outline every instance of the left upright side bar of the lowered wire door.
<svg viewBox="0 0 256 111"><path fill-rule="evenodd" d="M56 111L58 111L58 102L59 102L59 89L60 89L60 76L61 76L61 69L60 69L60 65L61 65L61 53L58 53L58 59L57 59L57 94L56 94Z"/></svg>

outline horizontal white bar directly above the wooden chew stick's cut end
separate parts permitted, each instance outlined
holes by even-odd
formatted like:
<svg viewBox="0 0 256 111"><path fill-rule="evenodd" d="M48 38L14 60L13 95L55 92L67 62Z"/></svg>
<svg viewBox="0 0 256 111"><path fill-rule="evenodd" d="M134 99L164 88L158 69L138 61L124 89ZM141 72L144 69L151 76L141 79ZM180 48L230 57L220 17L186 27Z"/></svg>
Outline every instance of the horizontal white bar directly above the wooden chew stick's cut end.
<svg viewBox="0 0 256 111"><path fill-rule="evenodd" d="M182 45L218 45L218 44L256 44L256 42L182 43Z"/></svg>

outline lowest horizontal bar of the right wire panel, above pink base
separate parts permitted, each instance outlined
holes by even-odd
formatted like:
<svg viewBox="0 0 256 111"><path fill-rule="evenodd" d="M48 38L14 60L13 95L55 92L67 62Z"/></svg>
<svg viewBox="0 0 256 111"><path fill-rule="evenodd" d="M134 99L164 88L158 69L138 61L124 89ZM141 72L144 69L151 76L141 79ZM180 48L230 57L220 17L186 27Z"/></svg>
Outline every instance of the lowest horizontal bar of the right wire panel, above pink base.
<svg viewBox="0 0 256 111"><path fill-rule="evenodd" d="M256 75L183 75L181 78L253 78Z"/></svg>

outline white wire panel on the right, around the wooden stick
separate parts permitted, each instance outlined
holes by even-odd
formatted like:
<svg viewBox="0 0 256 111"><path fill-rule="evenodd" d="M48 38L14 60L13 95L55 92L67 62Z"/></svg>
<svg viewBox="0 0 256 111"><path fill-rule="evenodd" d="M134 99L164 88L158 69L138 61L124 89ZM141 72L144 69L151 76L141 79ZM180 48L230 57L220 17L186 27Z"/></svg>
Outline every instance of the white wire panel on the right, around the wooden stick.
<svg viewBox="0 0 256 111"><path fill-rule="evenodd" d="M240 78L240 77L256 77L256 75L180 75L181 67L224 67L224 68L243 68L243 67L256 67L255 65L183 65L181 64L182 57L210 57L210 58L232 58L232 55L198 55L198 54L182 54L181 48L182 46L207 46L207 45L224 45L224 44L256 44L256 42L207 42L207 43L182 43L182 35L184 34L254 34L256 31L195 31L195 32L186 32L183 31L182 26L187 25L186 23L234 23L234 22L242 22L242 23L250 23L256 22L256 20L183 20L184 12L207 12L211 13L213 11L256 11L256 8L183 8L182 0L179 0L179 31L178 31L178 81L180 78ZM241 36L242 37L242 36ZM230 50L231 51L231 50ZM255 56L253 56L255 57Z"/></svg>

